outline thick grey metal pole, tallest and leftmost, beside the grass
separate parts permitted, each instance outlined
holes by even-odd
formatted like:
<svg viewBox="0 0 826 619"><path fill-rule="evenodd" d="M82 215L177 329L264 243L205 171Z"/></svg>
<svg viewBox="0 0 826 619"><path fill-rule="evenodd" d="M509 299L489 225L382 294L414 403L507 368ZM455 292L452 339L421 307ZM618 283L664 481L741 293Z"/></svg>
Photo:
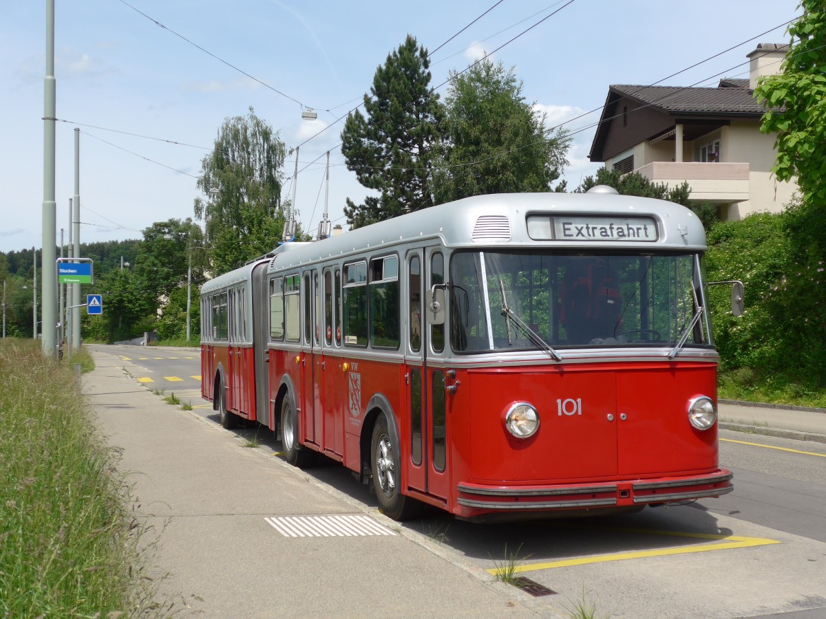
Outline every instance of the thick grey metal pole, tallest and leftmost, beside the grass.
<svg viewBox="0 0 826 619"><path fill-rule="evenodd" d="M57 357L57 256L55 255L55 124L57 82L55 80L55 0L46 0L46 75L43 95L43 354ZM35 272L37 266L35 265ZM37 305L35 304L35 337Z"/></svg>

